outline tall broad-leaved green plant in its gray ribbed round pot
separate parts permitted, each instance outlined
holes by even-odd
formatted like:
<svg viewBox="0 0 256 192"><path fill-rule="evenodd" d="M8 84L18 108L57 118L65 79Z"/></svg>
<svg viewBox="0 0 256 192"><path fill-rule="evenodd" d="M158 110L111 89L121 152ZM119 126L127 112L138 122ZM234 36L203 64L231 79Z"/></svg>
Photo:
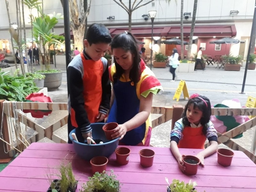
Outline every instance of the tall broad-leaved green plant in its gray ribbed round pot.
<svg viewBox="0 0 256 192"><path fill-rule="evenodd" d="M35 17L32 24L33 36L39 46L41 70L36 71L36 73L45 75L44 87L47 87L48 90L54 90L61 85L62 71L51 69L50 67L51 47L54 47L55 44L62 44L64 36L56 35L52 32L52 28L58 23L59 19L63 19L63 15L60 13L55 14L55 12L46 15L42 12L41 6L37 6L37 10L41 16ZM41 46L42 49L40 48ZM43 57L44 60L42 59ZM45 68L43 68L43 65Z"/></svg>

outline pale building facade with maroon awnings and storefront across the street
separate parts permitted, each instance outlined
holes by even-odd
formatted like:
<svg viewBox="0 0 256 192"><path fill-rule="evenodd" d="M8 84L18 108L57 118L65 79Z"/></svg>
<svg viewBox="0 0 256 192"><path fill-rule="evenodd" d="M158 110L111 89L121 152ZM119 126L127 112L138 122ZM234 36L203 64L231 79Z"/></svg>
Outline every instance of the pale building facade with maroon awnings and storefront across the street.
<svg viewBox="0 0 256 192"><path fill-rule="evenodd" d="M144 2L146 1L144 0ZM123 0L122 2L129 7L128 0ZM5 5L5 0L0 0L0 3L1 5ZM254 0L198 0L192 53L196 53L198 48L203 46L203 54L212 57L230 52L233 55L241 54L245 58L250 40L254 4ZM194 1L184 0L183 22L185 41L188 41L189 38L193 5ZM155 39L153 50L170 55L171 50L176 47L180 52L179 45L165 45L160 43L161 40L173 37L180 38L180 9L179 0L177 4L175 4L174 0L170 4L167 4L165 0L155 0L132 12L132 34L139 40L145 42L144 47L146 48L146 53L150 54L151 20L148 18L148 11L152 10L157 11L153 30ZM44 0L44 12L52 13L53 11L63 13L60 0ZM0 39L10 40L5 6L1 6L0 8L0 17L2 18L2 22L0 23ZM16 21L16 6L14 1L13 6L10 6L10 17L11 22ZM29 33L31 34L28 19L29 10L26 6L25 18L27 18L27 34L29 36ZM92 0L88 24L94 22L105 24L109 28L112 36L128 30L128 14L113 0ZM64 32L63 20L60 20L57 27L54 28L54 32L58 34ZM227 36L242 40L245 43L232 45L209 43L212 40ZM186 55L186 50L184 54Z"/></svg>

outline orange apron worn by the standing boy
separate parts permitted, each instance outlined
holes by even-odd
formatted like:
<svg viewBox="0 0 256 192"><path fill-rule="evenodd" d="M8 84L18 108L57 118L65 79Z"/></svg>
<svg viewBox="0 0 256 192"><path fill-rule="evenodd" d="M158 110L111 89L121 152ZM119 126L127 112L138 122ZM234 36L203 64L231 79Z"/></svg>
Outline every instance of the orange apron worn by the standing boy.
<svg viewBox="0 0 256 192"><path fill-rule="evenodd" d="M96 117L99 114L102 98L101 78L104 66L101 60L86 60L84 58L83 52L81 52L80 55L84 67L84 109L86 110L90 123L94 123L97 120ZM75 116L75 111L73 108L71 108L71 123L74 127L78 127Z"/></svg>

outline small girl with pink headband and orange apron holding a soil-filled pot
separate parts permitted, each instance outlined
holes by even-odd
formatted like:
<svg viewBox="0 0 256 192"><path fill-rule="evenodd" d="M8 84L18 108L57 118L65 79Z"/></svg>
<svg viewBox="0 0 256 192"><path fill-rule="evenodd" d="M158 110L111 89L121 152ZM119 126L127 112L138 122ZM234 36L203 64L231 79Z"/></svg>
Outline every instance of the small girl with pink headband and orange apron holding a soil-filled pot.
<svg viewBox="0 0 256 192"><path fill-rule="evenodd" d="M184 155L178 148L204 149L206 138L210 146L199 152L196 156L204 166L204 158L218 149L217 132L210 121L212 114L210 100L198 94L193 94L188 100L182 118L178 120L171 131L170 149L178 161L181 171L185 170L182 162Z"/></svg>

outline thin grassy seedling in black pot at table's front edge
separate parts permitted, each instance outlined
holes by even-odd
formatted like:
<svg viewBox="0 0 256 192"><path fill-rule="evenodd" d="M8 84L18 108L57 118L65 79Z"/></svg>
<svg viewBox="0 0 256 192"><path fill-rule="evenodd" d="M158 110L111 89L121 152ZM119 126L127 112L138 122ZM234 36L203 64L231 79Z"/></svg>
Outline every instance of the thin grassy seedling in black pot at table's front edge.
<svg viewBox="0 0 256 192"><path fill-rule="evenodd" d="M47 177L50 181L50 187L47 192L75 192L78 181L75 179L71 163L61 163L57 170L58 174L51 173L50 169L48 169ZM60 179L53 180L53 176L58 176Z"/></svg>

